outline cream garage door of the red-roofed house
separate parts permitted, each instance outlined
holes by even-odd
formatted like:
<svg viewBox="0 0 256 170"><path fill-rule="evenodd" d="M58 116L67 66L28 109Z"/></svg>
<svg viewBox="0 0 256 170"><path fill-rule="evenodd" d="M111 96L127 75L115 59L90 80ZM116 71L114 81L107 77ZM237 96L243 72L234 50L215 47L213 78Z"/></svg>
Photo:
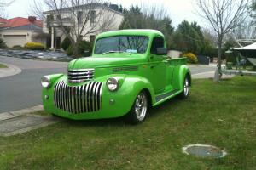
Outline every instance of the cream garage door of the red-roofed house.
<svg viewBox="0 0 256 170"><path fill-rule="evenodd" d="M14 47L15 45L24 46L26 44L26 35L18 36L3 36L3 40L9 48Z"/></svg>

